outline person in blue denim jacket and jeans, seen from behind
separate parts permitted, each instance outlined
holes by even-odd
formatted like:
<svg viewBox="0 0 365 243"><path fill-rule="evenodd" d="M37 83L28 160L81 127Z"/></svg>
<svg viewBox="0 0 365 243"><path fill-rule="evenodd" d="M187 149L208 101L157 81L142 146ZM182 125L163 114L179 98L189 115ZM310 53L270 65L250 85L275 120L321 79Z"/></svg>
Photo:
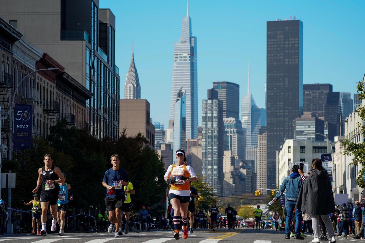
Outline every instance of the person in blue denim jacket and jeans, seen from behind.
<svg viewBox="0 0 365 243"><path fill-rule="evenodd" d="M285 223L285 239L290 239L290 225L292 222L293 212L295 210L295 235L294 239L300 239L303 240L304 238L301 236L300 230L301 230L301 211L299 209L295 209L295 204L298 199L298 194L302 185L302 180L299 175L299 165L295 164L292 168L293 173L289 176L285 177L283 180L283 183L281 184L281 187L278 191L278 193L273 198L273 201L275 202L280 196L284 193L285 189L286 192L286 203L285 207L287 209L287 219Z"/></svg>

